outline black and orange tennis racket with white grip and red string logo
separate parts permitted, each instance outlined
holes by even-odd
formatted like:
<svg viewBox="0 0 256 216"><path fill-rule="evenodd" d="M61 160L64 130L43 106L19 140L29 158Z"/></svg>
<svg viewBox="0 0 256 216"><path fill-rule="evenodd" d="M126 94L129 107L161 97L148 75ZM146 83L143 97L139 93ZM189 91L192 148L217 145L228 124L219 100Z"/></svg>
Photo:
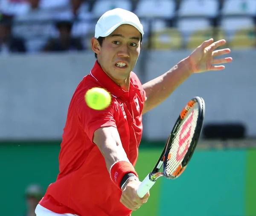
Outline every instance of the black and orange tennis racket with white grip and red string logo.
<svg viewBox="0 0 256 216"><path fill-rule="evenodd" d="M158 178L176 179L185 170L201 134L204 110L204 99L200 97L192 98L182 109L157 164L137 189L140 198ZM163 171L160 172L162 166Z"/></svg>

